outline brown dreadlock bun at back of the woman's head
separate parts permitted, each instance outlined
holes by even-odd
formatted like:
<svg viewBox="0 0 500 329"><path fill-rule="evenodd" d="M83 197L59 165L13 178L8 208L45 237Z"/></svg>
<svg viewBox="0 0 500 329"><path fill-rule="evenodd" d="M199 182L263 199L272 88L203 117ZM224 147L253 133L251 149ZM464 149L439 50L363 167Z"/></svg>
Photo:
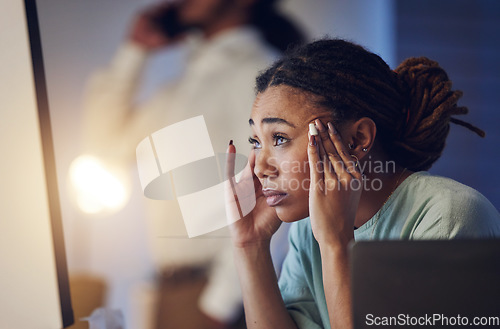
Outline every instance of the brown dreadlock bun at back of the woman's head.
<svg viewBox="0 0 500 329"><path fill-rule="evenodd" d="M435 61L426 57L409 58L395 70L407 97L406 122L401 125L395 147L406 154L406 162L414 170L427 170L441 156L450 121L467 127L484 137L481 129L453 118L467 114L457 106L462 92L452 90L452 82Z"/></svg>

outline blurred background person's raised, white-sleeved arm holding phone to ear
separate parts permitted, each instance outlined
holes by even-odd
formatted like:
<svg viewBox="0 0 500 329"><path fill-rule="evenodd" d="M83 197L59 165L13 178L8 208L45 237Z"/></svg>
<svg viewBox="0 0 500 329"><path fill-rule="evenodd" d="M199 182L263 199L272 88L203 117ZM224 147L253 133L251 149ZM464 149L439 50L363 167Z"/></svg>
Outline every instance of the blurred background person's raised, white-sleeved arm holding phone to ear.
<svg viewBox="0 0 500 329"><path fill-rule="evenodd" d="M159 115L154 112L161 112L164 105L156 104L157 97L140 106L136 103L149 55L172 43L152 22L160 10L153 7L139 13L111 63L90 77L83 105L87 152L130 161L137 143L154 128L161 128L155 126Z"/></svg>

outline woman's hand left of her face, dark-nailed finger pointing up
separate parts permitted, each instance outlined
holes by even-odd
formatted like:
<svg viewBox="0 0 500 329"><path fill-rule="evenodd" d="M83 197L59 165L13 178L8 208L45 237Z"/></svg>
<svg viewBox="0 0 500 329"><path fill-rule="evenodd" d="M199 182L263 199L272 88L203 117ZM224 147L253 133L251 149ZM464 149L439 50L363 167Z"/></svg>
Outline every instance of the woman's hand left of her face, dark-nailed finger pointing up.
<svg viewBox="0 0 500 329"><path fill-rule="evenodd" d="M239 182L234 178L236 148L230 144L227 157L226 213L230 223L233 244L246 247L269 243L281 225L274 208L269 207L259 179L254 174L255 152L252 150L248 164Z"/></svg>

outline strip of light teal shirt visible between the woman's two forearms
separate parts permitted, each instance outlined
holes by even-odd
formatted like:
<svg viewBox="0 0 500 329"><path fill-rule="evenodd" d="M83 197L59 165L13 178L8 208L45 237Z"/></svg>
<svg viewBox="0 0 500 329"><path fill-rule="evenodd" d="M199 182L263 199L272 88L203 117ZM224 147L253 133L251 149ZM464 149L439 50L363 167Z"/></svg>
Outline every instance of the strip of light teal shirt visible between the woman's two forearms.
<svg viewBox="0 0 500 329"><path fill-rule="evenodd" d="M290 228L290 247L283 263L279 286L283 301L300 329L320 329L321 316L316 301L308 284L306 271L311 269L307 264L307 239L301 236L299 223ZM302 223L300 223L302 224Z"/></svg>

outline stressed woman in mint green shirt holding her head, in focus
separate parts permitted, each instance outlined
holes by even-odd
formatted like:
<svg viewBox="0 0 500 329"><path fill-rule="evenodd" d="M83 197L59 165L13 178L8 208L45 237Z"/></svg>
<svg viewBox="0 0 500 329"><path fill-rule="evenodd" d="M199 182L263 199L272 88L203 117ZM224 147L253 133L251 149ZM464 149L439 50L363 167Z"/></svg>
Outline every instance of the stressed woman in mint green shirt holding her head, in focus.
<svg viewBox="0 0 500 329"><path fill-rule="evenodd" d="M436 62L392 71L358 45L322 40L277 61L256 90L254 150L231 184L239 208L229 208L237 219L241 190L255 184L255 207L232 226L249 328L352 327L353 240L499 235L500 216L479 192L425 172L450 121L484 136L452 117L467 109ZM278 285L269 241L281 221L299 220Z"/></svg>

